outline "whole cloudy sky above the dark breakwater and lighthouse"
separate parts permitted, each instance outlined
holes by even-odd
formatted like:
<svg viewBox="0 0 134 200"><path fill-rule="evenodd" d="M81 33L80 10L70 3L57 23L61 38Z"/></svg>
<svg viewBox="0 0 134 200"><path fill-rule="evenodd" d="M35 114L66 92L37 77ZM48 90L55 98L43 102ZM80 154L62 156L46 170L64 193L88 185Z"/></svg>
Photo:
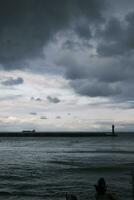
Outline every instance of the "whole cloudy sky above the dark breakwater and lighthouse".
<svg viewBox="0 0 134 200"><path fill-rule="evenodd" d="M0 130L134 130L133 0L0 0Z"/></svg>

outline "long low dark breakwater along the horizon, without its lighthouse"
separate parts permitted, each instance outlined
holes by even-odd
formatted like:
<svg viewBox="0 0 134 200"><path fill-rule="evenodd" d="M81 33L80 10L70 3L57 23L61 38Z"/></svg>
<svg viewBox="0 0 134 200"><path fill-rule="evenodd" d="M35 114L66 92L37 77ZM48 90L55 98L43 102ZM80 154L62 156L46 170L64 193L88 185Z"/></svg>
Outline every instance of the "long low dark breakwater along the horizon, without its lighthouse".
<svg viewBox="0 0 134 200"><path fill-rule="evenodd" d="M0 132L0 137L115 137L111 132Z"/></svg>

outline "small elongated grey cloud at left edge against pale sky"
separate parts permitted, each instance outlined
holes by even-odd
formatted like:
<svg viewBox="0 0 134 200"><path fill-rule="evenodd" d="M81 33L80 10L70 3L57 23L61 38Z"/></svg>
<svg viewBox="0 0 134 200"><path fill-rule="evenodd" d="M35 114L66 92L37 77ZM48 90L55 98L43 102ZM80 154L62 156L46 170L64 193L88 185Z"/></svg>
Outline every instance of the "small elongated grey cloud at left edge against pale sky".
<svg viewBox="0 0 134 200"><path fill-rule="evenodd" d="M6 79L5 81L2 81L1 84L4 86L13 86L13 85L20 85L23 84L24 80L21 77L18 78L12 78L9 77L8 79Z"/></svg>

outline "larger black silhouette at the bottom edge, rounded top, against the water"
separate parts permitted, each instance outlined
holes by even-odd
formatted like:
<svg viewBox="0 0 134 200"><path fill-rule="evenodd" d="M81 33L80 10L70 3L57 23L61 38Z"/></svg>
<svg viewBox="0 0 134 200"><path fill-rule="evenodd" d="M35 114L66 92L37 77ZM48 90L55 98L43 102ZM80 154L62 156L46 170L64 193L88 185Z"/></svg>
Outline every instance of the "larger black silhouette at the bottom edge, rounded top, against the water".
<svg viewBox="0 0 134 200"><path fill-rule="evenodd" d="M107 185L104 178L100 178L95 185L96 200L115 200L112 194L107 193Z"/></svg>

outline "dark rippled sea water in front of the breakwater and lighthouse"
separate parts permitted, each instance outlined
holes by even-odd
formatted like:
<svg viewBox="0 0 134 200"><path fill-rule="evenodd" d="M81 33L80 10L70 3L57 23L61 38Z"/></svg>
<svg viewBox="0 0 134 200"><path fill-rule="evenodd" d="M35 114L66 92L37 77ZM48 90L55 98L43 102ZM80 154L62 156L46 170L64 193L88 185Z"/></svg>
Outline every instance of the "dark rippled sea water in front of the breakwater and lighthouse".
<svg viewBox="0 0 134 200"><path fill-rule="evenodd" d="M0 138L0 200L93 200L100 177L130 200L133 170L134 134Z"/></svg>

